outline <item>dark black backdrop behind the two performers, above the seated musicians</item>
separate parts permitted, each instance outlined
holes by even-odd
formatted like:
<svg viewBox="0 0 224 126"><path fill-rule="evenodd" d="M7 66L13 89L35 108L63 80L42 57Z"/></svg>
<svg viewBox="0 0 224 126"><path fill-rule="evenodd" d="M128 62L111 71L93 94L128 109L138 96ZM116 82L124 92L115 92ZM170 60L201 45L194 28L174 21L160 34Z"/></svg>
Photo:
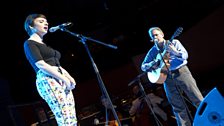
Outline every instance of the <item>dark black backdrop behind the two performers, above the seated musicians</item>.
<svg viewBox="0 0 224 126"><path fill-rule="evenodd" d="M126 98L128 84L141 73L142 58L152 46L148 28L159 26L169 39L178 27L178 37L189 52L189 67L202 93L223 85L223 0L23 0L7 1L2 9L1 124L12 125L8 105L41 101L35 88L35 73L23 52L28 38L23 28L30 13L43 13L49 27L65 22L70 31L118 49L87 41L108 93ZM90 58L79 39L60 30L45 36L47 44L62 53L61 65L77 81L77 110L99 102L101 91ZM143 77L144 84L147 79ZM79 112L79 111L78 111ZM4 119L5 118L5 119ZM9 121L7 121L9 120Z"/></svg>

